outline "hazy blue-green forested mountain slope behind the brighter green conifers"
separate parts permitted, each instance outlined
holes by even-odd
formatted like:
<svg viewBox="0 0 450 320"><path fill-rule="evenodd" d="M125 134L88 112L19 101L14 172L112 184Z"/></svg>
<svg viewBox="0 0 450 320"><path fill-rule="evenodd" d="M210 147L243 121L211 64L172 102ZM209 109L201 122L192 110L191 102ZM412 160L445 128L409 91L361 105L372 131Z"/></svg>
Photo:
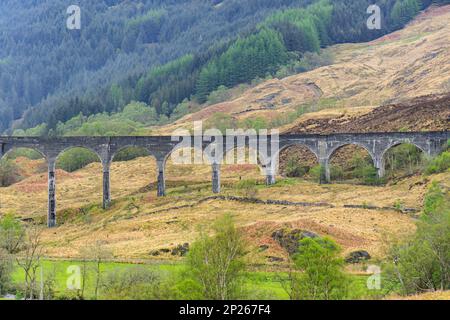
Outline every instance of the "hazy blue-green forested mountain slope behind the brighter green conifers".
<svg viewBox="0 0 450 320"><path fill-rule="evenodd" d="M47 109L58 109L75 96L99 96L114 83L136 82L156 66L187 54L198 54L201 61L274 10L310 2L82 0L77 2L81 29L70 31L67 1L1 1L0 131L31 107L48 120ZM85 113L89 107L86 102ZM90 111L118 107L123 105L110 99L105 110Z"/></svg>

